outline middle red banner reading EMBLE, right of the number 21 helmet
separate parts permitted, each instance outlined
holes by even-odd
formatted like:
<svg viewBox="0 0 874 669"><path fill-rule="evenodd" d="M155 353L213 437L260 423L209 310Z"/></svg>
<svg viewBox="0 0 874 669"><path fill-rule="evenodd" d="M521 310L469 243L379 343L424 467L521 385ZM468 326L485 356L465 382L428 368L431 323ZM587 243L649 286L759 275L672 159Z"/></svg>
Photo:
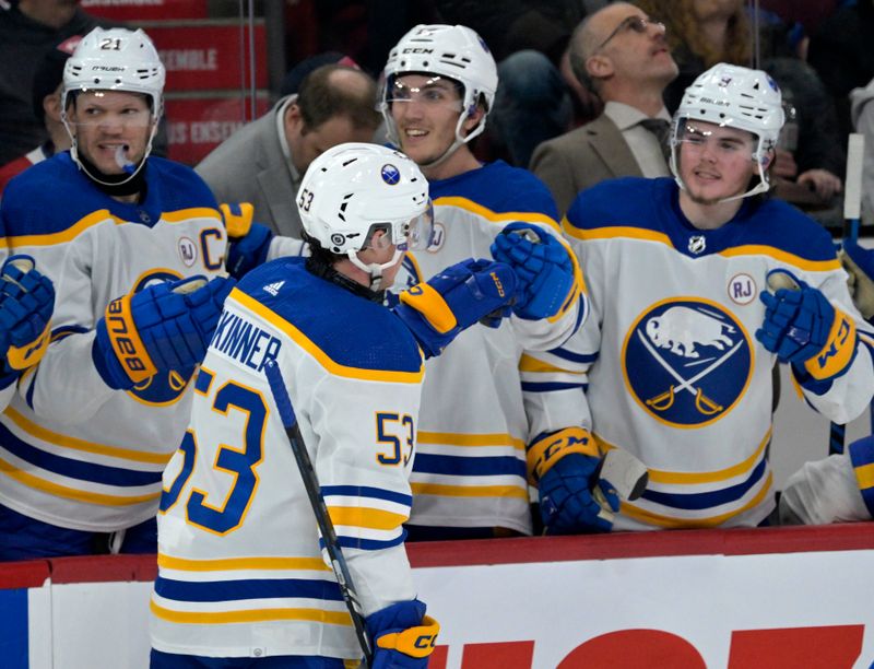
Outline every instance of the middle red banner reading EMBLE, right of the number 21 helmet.
<svg viewBox="0 0 874 669"><path fill-rule="evenodd" d="M267 37L263 23L256 25L253 31L255 85L265 89ZM249 33L240 30L238 24L155 25L147 27L146 32L167 69L167 91L238 91L243 83L246 87L250 85Z"/></svg>

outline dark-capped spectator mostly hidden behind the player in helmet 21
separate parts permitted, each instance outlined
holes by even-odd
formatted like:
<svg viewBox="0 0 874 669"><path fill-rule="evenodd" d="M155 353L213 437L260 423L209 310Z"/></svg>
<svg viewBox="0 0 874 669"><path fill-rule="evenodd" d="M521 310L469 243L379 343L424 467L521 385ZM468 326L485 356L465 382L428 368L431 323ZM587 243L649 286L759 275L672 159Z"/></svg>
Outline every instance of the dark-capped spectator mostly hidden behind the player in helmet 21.
<svg viewBox="0 0 874 669"><path fill-rule="evenodd" d="M34 75L33 106L34 115L43 121L48 132L48 139L39 146L0 167L0 196L9 180L16 174L70 148L70 136L67 134L61 121L61 83L63 82L63 66L80 39L82 39L81 35L64 39L48 51L44 56L43 62L39 63Z"/></svg>

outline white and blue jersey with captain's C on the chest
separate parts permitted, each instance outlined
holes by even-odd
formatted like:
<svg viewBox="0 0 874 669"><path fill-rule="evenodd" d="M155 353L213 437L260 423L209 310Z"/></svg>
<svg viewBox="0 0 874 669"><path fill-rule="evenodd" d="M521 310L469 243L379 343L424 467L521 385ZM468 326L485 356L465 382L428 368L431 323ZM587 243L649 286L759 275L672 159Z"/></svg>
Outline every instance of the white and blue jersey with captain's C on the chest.
<svg viewBox="0 0 874 669"><path fill-rule="evenodd" d="M114 531L154 516L188 421L193 369L120 391L92 361L111 300L223 270L224 225L200 177L152 157L145 179L145 200L121 203L62 153L3 193L5 251L33 256L56 301L52 343L0 416L0 503L52 525Z"/></svg>

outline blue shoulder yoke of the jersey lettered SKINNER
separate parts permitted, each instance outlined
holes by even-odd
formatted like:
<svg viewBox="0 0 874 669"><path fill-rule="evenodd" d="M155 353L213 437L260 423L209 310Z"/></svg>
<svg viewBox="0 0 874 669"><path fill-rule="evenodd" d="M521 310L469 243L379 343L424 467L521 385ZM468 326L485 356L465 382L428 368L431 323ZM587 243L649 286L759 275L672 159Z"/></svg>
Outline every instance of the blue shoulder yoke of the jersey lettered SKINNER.
<svg viewBox="0 0 874 669"><path fill-rule="evenodd" d="M418 372L413 336L383 305L308 272L303 258L280 258L237 287L292 324L335 363L361 369Z"/></svg>

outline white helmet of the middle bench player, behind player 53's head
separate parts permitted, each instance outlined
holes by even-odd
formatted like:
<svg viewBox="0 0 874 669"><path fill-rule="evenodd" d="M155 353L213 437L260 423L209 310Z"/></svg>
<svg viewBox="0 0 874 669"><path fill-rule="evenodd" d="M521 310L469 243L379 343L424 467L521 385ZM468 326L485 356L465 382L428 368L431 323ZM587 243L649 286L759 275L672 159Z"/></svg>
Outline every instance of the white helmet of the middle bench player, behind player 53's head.
<svg viewBox="0 0 874 669"><path fill-rule="evenodd" d="M464 25L420 24L412 28L389 52L383 70L385 82L379 96L379 110L386 119L389 136L397 143L398 129L391 118L388 95L394 79L402 74L437 74L461 84L463 89L462 113L456 126L456 144L472 140L485 130L485 117L495 102L498 87L498 68L485 42L475 31ZM481 98L486 114L466 137L461 127L474 114Z"/></svg>

